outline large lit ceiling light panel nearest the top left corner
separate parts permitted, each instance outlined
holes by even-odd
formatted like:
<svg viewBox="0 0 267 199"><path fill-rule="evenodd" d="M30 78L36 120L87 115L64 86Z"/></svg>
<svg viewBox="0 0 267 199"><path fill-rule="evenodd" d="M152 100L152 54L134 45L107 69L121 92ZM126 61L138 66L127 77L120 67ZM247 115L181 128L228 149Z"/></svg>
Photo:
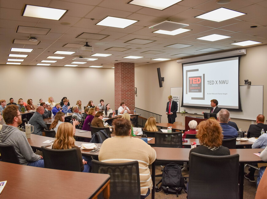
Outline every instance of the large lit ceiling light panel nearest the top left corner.
<svg viewBox="0 0 267 199"><path fill-rule="evenodd" d="M22 16L60 20L66 12L67 10L62 9L26 5Z"/></svg>

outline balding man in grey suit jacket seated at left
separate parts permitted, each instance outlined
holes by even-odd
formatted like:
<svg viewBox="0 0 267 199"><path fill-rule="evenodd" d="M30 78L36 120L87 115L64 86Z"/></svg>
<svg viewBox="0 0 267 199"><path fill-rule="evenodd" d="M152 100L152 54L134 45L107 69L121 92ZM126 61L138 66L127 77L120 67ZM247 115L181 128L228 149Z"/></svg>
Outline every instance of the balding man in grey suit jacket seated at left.
<svg viewBox="0 0 267 199"><path fill-rule="evenodd" d="M42 114L44 114L44 107L38 106L36 112L29 121L29 124L33 125L33 134L42 135L42 129L47 127Z"/></svg>

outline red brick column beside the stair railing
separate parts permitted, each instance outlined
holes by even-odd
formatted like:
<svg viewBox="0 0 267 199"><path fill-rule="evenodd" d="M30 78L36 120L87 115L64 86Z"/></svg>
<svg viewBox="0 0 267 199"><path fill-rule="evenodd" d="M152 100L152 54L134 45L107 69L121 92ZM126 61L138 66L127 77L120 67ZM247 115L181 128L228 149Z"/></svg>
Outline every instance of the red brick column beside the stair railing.
<svg viewBox="0 0 267 199"><path fill-rule="evenodd" d="M115 110L124 101L130 111L134 112L134 63L119 62L114 67Z"/></svg>

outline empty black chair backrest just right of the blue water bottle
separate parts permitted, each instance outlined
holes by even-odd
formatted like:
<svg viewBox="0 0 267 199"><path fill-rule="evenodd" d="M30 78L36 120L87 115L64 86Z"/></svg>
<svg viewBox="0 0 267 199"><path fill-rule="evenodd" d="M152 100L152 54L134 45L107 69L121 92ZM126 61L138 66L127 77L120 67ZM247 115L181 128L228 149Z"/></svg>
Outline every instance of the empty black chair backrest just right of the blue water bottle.
<svg viewBox="0 0 267 199"><path fill-rule="evenodd" d="M155 147L182 148L182 132L155 132Z"/></svg>

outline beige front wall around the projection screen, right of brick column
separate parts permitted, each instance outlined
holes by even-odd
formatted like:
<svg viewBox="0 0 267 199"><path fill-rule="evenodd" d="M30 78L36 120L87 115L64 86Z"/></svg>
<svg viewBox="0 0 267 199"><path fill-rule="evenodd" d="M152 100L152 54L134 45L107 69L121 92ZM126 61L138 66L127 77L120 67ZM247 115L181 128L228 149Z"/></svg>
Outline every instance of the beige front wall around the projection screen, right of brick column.
<svg viewBox="0 0 267 199"><path fill-rule="evenodd" d="M252 85L265 85L267 82L267 45L260 45L246 49L246 55L241 56L240 60L240 85L244 85L244 80L249 79ZM157 78L157 68L161 68L161 77L165 78L163 87L159 88ZM161 114L161 122L168 122L165 114L167 97L170 95L171 87L182 87L182 64L176 63L176 60L159 62L145 66L135 67L135 86L137 87L137 97L135 97L135 106L154 113ZM264 87L264 104L267 88ZM257 96L254 96L257 98ZM181 100L181 98L180 98ZM253 104L252 106L257 106ZM245 109L245 107L242 107ZM263 114L267 116L267 107L264 106ZM189 114L187 114L189 115ZM177 113L176 121L182 121L184 125L184 116ZM194 116L194 115L192 115ZM266 117L267 119L267 117ZM256 118L255 118L256 120ZM238 128L248 130L249 125L254 122L250 120L231 119L237 123ZM266 122L265 122L266 123Z"/></svg>

